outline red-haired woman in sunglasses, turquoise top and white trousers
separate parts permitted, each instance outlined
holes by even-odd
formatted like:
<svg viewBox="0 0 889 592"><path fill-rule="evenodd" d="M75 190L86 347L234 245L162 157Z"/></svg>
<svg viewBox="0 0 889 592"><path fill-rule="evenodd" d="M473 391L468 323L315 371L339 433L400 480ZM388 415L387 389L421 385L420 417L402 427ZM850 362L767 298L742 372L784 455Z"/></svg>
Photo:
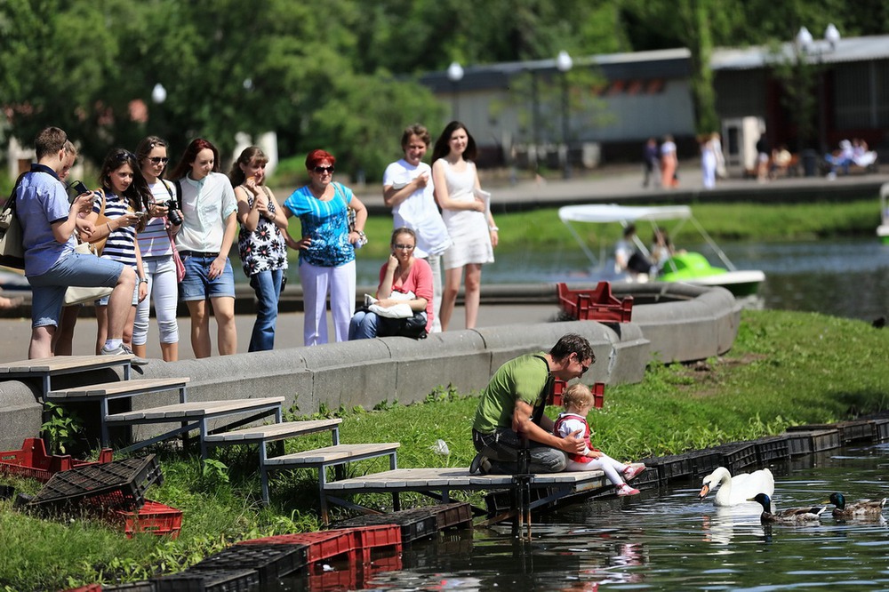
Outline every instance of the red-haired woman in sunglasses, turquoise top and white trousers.
<svg viewBox="0 0 889 592"><path fill-rule="evenodd" d="M284 202L284 215L297 216L299 241L288 245L300 252L300 284L305 308L303 340L307 346L327 343L327 292L337 341L348 340L348 323L355 314L355 245L364 244L367 209L352 190L334 183L336 158L324 150L306 156L308 185ZM355 228L348 228L348 209L355 210Z"/></svg>

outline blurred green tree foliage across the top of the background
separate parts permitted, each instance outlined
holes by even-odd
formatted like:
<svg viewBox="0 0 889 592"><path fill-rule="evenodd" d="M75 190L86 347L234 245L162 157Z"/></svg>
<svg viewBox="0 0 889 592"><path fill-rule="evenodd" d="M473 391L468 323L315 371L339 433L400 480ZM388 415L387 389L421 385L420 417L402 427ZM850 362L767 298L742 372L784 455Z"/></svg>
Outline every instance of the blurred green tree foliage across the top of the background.
<svg viewBox="0 0 889 592"><path fill-rule="evenodd" d="M99 161L148 133L179 156L203 136L275 130L281 156L323 146L340 170L379 176L405 124L435 130L445 108L415 76L500 61L688 47L698 127L713 129L709 54L789 41L834 22L889 28L860 0L9 0L0 3L0 140L60 125ZM151 100L155 84L167 99ZM594 123L593 123L594 124ZM5 143L5 142L4 142ZM393 148L394 147L394 148Z"/></svg>

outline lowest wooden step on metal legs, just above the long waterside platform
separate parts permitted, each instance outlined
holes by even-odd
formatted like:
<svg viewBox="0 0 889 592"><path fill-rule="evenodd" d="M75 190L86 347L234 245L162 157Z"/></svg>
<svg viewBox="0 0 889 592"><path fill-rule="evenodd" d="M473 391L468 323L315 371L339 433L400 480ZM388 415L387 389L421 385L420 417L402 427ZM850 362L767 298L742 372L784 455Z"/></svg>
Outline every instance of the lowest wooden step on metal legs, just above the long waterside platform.
<svg viewBox="0 0 889 592"><path fill-rule="evenodd" d="M373 459L380 456L389 457L389 471L398 468L397 450L401 446L397 442L387 444L338 444L327 448L318 448L306 452L285 454L266 460L262 470L279 470L284 468L317 468L318 469L318 493L321 496L321 519L324 524L330 524L327 512L327 468L344 465L356 460ZM375 473L373 476L382 475ZM332 483L344 483L333 481ZM336 500L340 505L346 502ZM392 496L393 506L400 509L397 496Z"/></svg>

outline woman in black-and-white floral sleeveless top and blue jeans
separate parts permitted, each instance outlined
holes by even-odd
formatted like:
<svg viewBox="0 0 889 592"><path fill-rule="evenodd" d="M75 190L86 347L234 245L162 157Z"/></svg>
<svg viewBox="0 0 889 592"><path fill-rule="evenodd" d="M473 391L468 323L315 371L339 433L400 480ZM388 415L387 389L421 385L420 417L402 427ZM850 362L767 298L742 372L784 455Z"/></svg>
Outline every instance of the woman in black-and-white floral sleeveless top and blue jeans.
<svg viewBox="0 0 889 592"><path fill-rule="evenodd" d="M237 250L244 274L256 292L259 307L247 351L275 348L278 298L287 274L287 245L284 233L287 218L265 186L268 157L259 147L244 148L232 164L228 179L235 188L237 220L241 231Z"/></svg>

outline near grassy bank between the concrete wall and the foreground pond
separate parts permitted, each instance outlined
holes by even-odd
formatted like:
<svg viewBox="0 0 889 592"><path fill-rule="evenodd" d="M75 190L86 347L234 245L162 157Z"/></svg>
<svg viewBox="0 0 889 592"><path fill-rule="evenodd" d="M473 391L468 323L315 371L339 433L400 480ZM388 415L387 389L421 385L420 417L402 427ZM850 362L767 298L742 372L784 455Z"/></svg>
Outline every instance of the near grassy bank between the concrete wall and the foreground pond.
<svg viewBox="0 0 889 592"><path fill-rule="evenodd" d="M653 367L640 384L607 388L605 408L589 419L605 452L640 459L779 433L792 424L877 412L889 406L886 351L889 331L859 321L745 311L728 355L693 367ZM476 404L476 394L444 387L425 404L386 402L378 411L337 410L344 418L341 440L401 442L398 460L405 468L466 467L473 455L469 426ZM448 444L449 456L430 451L437 439ZM324 438L293 444L306 449L326 443ZM261 508L255 450L219 451L203 471L195 458L159 453L165 483L149 497L183 510L178 540L153 535L124 540L122 533L82 516L46 521L23 516L11 501L0 501L0 587L60 589L139 580L194 564L233 540L318 526L311 472L275 476L272 506ZM39 487L14 483L26 492Z"/></svg>

